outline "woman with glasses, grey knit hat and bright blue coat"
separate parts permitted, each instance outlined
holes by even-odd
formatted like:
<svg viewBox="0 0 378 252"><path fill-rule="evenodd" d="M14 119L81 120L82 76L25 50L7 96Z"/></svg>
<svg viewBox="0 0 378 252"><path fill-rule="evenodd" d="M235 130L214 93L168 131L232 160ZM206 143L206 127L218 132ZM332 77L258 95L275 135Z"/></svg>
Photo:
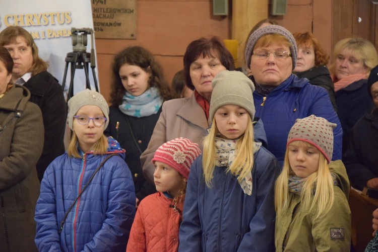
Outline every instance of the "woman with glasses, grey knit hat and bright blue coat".
<svg viewBox="0 0 378 252"><path fill-rule="evenodd" d="M342 129L327 91L292 74L297 61L293 35L276 25L258 29L248 39L245 58L256 87L255 116L262 119L268 150L280 164L291 126L296 119L310 115L338 125L334 130L333 160L341 159Z"/></svg>

